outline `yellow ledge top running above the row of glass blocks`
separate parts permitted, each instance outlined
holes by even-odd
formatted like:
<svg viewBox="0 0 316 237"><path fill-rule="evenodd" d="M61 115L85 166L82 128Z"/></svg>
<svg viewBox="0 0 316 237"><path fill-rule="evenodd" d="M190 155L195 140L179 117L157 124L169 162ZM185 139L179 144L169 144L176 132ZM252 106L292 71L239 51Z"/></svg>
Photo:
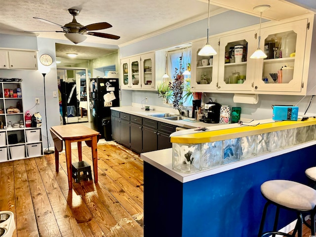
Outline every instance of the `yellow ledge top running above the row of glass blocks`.
<svg viewBox="0 0 316 237"><path fill-rule="evenodd" d="M304 121L279 121L258 124L257 126L241 125L240 127L235 128L227 128L215 131L197 131L196 133L191 134L171 136L170 141L172 143L181 144L199 144L252 136L296 127L311 126L315 124L316 118L308 118Z"/></svg>

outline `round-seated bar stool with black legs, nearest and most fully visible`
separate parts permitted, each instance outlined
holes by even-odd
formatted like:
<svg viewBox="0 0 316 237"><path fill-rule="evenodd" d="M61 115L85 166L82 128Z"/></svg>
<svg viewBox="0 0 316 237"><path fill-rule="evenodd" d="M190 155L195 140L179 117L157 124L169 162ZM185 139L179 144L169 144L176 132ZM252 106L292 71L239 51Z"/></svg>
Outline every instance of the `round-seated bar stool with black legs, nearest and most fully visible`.
<svg viewBox="0 0 316 237"><path fill-rule="evenodd" d="M302 237L302 225L306 224L311 228L311 235L315 235L315 214L316 214L316 190L294 181L289 180L270 180L261 185L261 194L267 200L264 206L262 219L258 237L268 235L283 235L286 237L294 237L298 232L298 237ZM274 221L273 231L263 232L265 224L267 208L270 204L276 206L276 216ZM280 208L295 211L297 214L297 222L293 235L276 231L278 223L278 215ZM303 219L304 215L311 215L311 223L309 225Z"/></svg>

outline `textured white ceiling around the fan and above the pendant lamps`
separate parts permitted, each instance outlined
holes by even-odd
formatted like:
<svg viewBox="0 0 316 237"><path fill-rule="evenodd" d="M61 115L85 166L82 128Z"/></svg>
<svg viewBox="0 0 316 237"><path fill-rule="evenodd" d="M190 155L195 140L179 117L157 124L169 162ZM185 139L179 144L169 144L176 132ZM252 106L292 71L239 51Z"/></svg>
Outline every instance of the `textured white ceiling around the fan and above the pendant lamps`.
<svg viewBox="0 0 316 237"><path fill-rule="evenodd" d="M308 11L289 1L294 0L211 0L210 12L212 15L233 9L258 15L253 12L253 6L270 4L271 9L264 12L263 17L280 20L303 15ZM67 9L76 8L80 10L76 17L80 24L108 22L113 27L97 32L120 36L119 40L110 40L87 35L85 42L112 45L125 44L207 17L207 0L0 0L0 3L0 33L21 35L35 34L24 33L24 31L61 31L60 27L33 17L65 25L72 21ZM63 33L36 32L36 35L66 40ZM64 52L67 51L65 48L60 48ZM57 51L57 55L62 55L62 52Z"/></svg>

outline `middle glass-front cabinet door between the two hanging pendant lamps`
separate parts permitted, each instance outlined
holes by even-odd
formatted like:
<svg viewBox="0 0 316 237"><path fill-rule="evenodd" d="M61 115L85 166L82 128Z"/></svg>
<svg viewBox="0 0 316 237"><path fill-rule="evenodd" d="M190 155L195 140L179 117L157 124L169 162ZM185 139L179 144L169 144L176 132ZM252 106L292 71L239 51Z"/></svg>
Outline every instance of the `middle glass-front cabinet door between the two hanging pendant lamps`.
<svg viewBox="0 0 316 237"><path fill-rule="evenodd" d="M218 90L252 90L255 67L255 31L222 37L219 49Z"/></svg>

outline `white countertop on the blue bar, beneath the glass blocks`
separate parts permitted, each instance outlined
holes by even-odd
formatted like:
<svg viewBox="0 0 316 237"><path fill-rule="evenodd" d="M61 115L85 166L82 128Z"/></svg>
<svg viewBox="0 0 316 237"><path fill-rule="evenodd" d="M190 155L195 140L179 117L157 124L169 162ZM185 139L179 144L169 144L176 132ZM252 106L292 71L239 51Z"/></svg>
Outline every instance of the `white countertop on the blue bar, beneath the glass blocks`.
<svg viewBox="0 0 316 237"><path fill-rule="evenodd" d="M310 147L316 145L316 141L300 144L298 146L290 147L287 149L279 150L273 153L268 153L259 157L255 158L248 158L243 159L235 162L231 162L225 165L221 165L219 167L215 167L213 169L202 170L196 173L181 173L172 169L172 148L158 150L154 152L147 152L140 154L140 158L142 158L145 162L150 163L151 165L155 166L156 168L160 169L161 171L165 172L166 174L170 175L171 177L179 180L181 183L190 182L193 180L197 180L203 177L207 177L210 175L214 175L217 173L222 173L227 170L236 169L241 166L245 166L248 164L252 164L261 160L273 158L285 153L293 152L296 150L300 150L306 147ZM145 181L146 182L146 181Z"/></svg>

